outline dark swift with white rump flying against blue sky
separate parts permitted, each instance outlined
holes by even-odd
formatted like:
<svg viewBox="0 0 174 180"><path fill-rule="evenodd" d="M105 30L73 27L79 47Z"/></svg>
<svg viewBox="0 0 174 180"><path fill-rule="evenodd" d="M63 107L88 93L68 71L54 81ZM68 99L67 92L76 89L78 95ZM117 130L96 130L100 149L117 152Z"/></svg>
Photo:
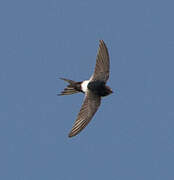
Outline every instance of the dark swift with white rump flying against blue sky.
<svg viewBox="0 0 174 180"><path fill-rule="evenodd" d="M93 118L101 104L101 99L113 93L112 89L106 85L106 82L109 79L109 72L110 60L108 49L105 42L99 40L96 65L94 73L89 80L76 82L70 79L60 78L69 84L60 94L58 94L59 96L71 95L79 92L85 94L80 112L77 115L77 119L75 120L68 137L79 134Z"/></svg>

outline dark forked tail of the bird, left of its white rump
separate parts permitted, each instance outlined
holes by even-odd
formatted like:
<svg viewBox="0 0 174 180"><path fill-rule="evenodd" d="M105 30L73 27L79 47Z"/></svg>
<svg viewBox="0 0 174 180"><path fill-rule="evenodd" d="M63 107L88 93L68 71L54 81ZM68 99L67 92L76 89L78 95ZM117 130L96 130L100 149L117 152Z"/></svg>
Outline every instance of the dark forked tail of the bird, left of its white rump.
<svg viewBox="0 0 174 180"><path fill-rule="evenodd" d="M60 79L68 82L69 85L60 94L58 94L58 96L70 95L70 94L74 94L74 93L79 92L79 90L76 89L76 82L75 81L65 79L65 78L60 78Z"/></svg>

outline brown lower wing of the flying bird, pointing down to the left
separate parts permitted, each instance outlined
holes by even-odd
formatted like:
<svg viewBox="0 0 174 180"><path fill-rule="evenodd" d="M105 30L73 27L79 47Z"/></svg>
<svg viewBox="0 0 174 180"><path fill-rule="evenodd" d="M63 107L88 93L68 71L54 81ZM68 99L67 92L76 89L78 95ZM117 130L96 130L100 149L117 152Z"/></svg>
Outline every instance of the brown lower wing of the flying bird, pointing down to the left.
<svg viewBox="0 0 174 180"><path fill-rule="evenodd" d="M72 127L72 130L68 135L69 137L77 135L86 127L100 106L100 102L101 97L93 94L91 91L86 93L83 105Z"/></svg>

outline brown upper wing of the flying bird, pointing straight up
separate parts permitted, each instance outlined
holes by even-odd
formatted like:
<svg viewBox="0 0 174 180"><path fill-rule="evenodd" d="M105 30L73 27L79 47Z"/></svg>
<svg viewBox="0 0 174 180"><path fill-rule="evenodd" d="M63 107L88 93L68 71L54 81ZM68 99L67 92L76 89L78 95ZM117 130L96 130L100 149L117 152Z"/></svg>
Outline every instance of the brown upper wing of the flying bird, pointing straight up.
<svg viewBox="0 0 174 180"><path fill-rule="evenodd" d="M104 41L100 40L95 70L90 80L91 81L100 80L106 82L109 78L109 69L110 69L109 53Z"/></svg>

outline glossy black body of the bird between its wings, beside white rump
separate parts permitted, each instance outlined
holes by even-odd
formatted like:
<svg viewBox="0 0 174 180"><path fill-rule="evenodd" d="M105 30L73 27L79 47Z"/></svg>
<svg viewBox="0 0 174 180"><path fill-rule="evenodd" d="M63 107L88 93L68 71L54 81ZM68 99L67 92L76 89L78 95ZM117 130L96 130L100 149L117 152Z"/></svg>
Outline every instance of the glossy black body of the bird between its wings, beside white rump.
<svg viewBox="0 0 174 180"><path fill-rule="evenodd" d="M93 81L88 84L88 89L98 96L107 96L107 88L103 81Z"/></svg>

